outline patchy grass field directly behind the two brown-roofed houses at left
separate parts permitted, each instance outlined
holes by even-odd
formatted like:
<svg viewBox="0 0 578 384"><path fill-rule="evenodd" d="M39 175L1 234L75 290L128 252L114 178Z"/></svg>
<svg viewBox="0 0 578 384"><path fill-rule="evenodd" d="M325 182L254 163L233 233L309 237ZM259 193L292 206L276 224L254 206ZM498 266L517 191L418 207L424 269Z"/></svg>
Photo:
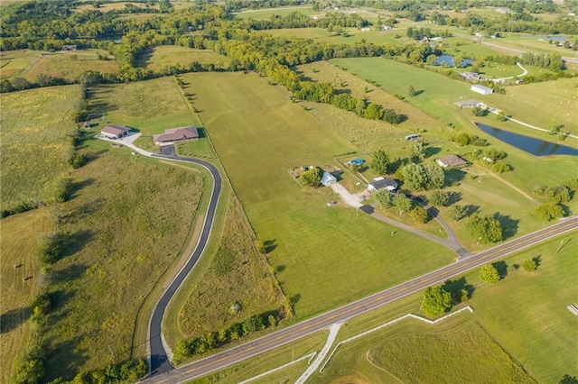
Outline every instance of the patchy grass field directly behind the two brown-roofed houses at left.
<svg viewBox="0 0 578 384"><path fill-rule="evenodd" d="M90 88L89 114L98 119L98 130L104 126L98 118L103 113L106 123L129 126L143 136L167 128L200 126L172 77Z"/></svg>

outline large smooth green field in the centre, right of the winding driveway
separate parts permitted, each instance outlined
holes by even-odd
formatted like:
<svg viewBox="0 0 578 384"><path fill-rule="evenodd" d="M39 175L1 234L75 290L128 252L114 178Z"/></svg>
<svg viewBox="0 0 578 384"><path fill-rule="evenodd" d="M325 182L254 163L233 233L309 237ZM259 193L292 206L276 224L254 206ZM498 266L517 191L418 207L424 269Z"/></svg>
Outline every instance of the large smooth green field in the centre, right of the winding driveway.
<svg viewBox="0 0 578 384"><path fill-rule="evenodd" d="M195 105L297 314L308 316L452 261L452 251L354 209L330 188L301 187L288 169L357 151L266 79L191 74Z"/></svg>

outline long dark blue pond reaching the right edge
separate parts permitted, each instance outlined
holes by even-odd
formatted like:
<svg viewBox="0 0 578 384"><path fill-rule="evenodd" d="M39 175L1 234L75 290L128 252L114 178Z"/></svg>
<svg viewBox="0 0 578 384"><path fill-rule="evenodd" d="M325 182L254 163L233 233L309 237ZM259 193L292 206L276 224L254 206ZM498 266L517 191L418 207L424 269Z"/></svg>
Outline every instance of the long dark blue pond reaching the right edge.
<svg viewBox="0 0 578 384"><path fill-rule="evenodd" d="M533 137L524 136L517 133L503 131L492 126L475 123L480 130L488 133L496 139L513 145L519 150L527 151L534 156L551 156L551 155L571 155L578 156L578 150L568 147L566 145L557 144L555 142L545 142L544 140L535 139Z"/></svg>

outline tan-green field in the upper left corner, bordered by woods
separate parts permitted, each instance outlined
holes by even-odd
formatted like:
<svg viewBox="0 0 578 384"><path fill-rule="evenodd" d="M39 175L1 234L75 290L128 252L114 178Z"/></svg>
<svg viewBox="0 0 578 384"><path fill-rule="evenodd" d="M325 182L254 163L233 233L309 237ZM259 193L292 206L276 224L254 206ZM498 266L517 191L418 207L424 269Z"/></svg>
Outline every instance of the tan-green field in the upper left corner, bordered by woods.
<svg viewBox="0 0 578 384"><path fill-rule="evenodd" d="M118 70L117 60L98 59L98 55L109 57L106 50L71 50L45 55L41 55L40 50L9 50L2 52L2 75L3 78L25 78L32 83L40 75L77 80L88 70L102 73Z"/></svg>

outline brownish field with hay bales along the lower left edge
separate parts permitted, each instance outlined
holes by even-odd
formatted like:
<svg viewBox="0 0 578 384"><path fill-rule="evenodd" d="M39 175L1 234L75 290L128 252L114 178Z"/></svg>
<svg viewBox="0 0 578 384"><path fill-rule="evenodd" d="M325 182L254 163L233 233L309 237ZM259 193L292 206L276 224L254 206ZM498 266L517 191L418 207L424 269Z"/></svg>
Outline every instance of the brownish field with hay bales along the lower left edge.
<svg viewBox="0 0 578 384"><path fill-rule="evenodd" d="M34 253L41 234L53 230L51 216L40 209L2 220L0 381L3 383L11 381L14 360L31 339L30 305L42 285Z"/></svg>

